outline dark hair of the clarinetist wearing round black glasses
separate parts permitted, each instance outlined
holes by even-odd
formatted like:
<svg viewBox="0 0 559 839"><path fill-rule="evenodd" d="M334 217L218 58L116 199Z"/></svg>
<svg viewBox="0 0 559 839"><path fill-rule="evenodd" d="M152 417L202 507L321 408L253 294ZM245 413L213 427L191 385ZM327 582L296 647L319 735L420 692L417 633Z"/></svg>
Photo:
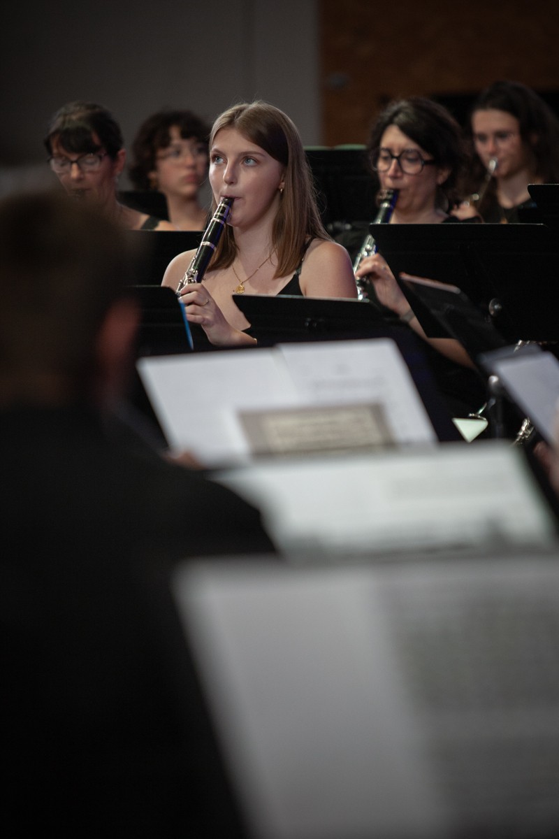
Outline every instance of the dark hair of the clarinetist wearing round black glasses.
<svg viewBox="0 0 559 839"><path fill-rule="evenodd" d="M390 102L375 119L370 131L367 152L371 155L390 125L396 125L414 143L431 154L437 166L448 168L448 179L440 190L450 206L458 200L457 184L463 175L468 154L462 128L453 115L438 102L426 96L410 96Z"/></svg>

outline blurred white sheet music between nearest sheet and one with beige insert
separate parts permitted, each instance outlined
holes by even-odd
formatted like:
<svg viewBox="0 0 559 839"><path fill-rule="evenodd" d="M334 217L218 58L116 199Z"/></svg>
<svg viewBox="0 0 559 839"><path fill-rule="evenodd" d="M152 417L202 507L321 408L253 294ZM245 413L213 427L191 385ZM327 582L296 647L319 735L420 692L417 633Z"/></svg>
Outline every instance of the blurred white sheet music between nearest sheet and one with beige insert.
<svg viewBox="0 0 559 839"><path fill-rule="evenodd" d="M261 508L272 538L295 559L556 540L522 453L502 440L256 462L216 477Z"/></svg>

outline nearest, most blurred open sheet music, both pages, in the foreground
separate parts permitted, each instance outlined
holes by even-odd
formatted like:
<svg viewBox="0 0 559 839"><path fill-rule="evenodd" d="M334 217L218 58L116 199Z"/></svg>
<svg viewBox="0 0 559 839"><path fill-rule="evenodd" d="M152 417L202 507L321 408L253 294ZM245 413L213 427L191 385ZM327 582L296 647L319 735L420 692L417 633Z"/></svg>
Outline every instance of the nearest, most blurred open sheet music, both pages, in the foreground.
<svg viewBox="0 0 559 839"><path fill-rule="evenodd" d="M531 551L173 580L259 839L557 836L559 566Z"/></svg>

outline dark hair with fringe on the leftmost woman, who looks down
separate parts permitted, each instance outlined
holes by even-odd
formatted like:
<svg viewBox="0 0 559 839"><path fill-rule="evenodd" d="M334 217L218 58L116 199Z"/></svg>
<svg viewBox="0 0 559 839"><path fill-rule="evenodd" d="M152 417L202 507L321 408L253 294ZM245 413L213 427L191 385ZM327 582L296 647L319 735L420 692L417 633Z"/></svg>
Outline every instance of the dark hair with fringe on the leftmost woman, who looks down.
<svg viewBox="0 0 559 839"><path fill-rule="evenodd" d="M96 134L99 143L93 139ZM44 147L52 154L53 143L75 154L90 154L105 149L111 159L124 148L121 128L111 112L96 102L68 102L54 114L44 138Z"/></svg>

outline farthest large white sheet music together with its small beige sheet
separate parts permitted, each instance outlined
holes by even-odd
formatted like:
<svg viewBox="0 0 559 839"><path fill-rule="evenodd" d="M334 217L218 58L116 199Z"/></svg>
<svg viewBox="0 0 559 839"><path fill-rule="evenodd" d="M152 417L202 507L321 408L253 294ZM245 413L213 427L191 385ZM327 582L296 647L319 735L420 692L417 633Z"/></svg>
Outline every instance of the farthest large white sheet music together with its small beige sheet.
<svg viewBox="0 0 559 839"><path fill-rule="evenodd" d="M272 454L280 437L285 453L290 421L293 451L320 433L325 449L437 442L390 339L147 357L137 367L172 450L191 451L206 466L250 461L262 447Z"/></svg>

